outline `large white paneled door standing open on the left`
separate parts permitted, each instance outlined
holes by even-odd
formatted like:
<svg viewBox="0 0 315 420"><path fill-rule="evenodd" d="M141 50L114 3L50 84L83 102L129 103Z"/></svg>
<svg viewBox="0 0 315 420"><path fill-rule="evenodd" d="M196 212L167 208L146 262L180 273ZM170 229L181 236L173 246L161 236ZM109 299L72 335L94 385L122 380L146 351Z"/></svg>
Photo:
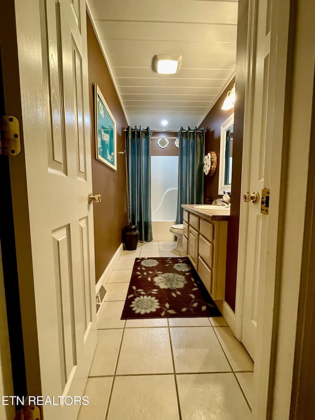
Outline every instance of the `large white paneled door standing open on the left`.
<svg viewBox="0 0 315 420"><path fill-rule="evenodd" d="M55 397L45 420L75 420L96 346L85 1L16 0L15 14L35 306L32 316L21 293L28 393ZM16 241L22 278L18 230Z"/></svg>

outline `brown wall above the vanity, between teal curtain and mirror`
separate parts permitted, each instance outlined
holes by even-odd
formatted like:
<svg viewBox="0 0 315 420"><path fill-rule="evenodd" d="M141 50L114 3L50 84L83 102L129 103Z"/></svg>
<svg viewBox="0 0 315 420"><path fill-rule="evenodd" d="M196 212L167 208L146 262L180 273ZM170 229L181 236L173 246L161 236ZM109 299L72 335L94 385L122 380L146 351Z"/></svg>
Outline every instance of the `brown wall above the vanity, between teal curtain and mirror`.
<svg viewBox="0 0 315 420"><path fill-rule="evenodd" d="M230 91L235 83L235 79L229 83L221 97L217 100L214 107L211 109L209 114L201 123L200 127L206 128L206 145L205 152L216 152L218 155L218 167L216 173L213 176L206 176L205 178L205 201L206 197L210 197L211 200L218 198L218 186L219 186L219 165L220 165L220 140L221 140L221 124L224 123L227 118L233 114L234 108L227 111L221 109L224 98L228 91ZM234 156L233 156L234 159ZM232 181L233 182L233 181Z"/></svg>

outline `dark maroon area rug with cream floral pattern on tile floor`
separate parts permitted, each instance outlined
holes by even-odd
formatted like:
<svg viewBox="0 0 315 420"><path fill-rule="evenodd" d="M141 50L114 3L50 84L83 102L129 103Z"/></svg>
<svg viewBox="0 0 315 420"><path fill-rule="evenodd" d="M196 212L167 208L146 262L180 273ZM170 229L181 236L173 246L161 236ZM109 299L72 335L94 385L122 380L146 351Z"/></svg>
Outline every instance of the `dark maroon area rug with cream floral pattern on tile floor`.
<svg viewBox="0 0 315 420"><path fill-rule="evenodd" d="M122 320L220 317L189 258L136 258Z"/></svg>

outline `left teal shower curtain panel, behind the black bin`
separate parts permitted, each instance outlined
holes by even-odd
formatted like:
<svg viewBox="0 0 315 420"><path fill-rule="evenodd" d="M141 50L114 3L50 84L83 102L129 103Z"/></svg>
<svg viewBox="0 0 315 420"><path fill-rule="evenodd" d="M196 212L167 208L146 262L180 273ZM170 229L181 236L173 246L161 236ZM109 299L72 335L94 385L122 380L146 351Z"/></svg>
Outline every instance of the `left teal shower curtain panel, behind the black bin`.
<svg viewBox="0 0 315 420"><path fill-rule="evenodd" d="M137 226L140 241L152 241L151 129L127 128L126 162L128 223Z"/></svg>

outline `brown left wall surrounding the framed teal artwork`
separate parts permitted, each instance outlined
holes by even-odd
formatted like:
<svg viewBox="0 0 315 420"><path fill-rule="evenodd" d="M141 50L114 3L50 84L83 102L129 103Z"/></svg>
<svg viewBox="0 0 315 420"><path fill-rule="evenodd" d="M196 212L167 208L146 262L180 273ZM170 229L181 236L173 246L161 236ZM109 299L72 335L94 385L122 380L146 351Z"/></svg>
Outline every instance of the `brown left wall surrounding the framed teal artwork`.
<svg viewBox="0 0 315 420"><path fill-rule="evenodd" d="M99 86L116 120L117 152L125 150L123 129L127 127L127 122L88 16L87 32L93 193L102 195L102 202L94 204L95 274L97 282L122 243L122 228L127 224L127 205L125 155L117 154L117 171L95 159L93 83L97 83Z"/></svg>

